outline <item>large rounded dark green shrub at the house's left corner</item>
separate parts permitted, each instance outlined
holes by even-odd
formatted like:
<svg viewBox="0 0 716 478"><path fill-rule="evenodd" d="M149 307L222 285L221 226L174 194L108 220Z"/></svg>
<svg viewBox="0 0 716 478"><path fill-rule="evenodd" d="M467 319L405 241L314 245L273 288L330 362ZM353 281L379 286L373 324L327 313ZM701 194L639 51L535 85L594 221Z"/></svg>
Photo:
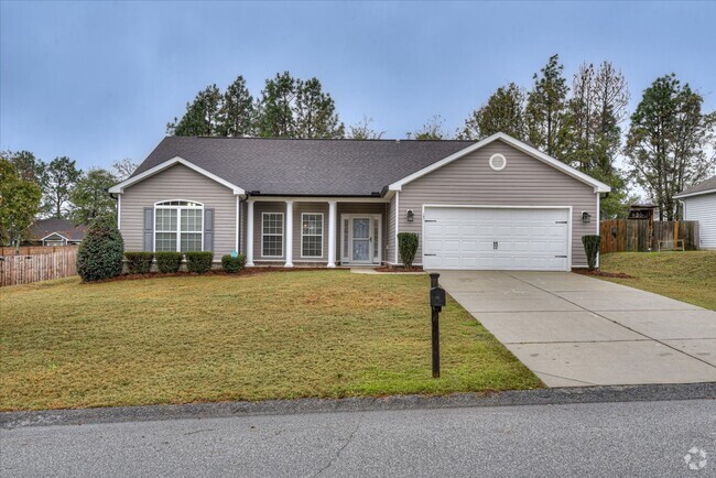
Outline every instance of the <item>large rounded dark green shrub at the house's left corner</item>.
<svg viewBox="0 0 716 478"><path fill-rule="evenodd" d="M77 273L85 282L113 278L122 272L124 241L111 217L98 217L89 226L77 251Z"/></svg>

